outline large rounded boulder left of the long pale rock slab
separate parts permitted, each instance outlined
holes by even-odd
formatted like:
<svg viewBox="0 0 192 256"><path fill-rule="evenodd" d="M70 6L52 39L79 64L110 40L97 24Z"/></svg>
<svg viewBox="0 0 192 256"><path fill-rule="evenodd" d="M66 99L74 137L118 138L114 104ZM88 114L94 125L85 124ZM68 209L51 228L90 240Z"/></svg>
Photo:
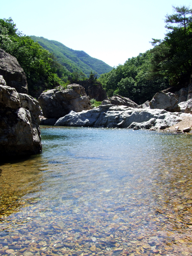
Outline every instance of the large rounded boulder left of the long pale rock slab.
<svg viewBox="0 0 192 256"><path fill-rule="evenodd" d="M43 92L38 101L46 118L60 118L71 110L80 112L92 109L84 87L79 84L70 84L65 90L53 89Z"/></svg>

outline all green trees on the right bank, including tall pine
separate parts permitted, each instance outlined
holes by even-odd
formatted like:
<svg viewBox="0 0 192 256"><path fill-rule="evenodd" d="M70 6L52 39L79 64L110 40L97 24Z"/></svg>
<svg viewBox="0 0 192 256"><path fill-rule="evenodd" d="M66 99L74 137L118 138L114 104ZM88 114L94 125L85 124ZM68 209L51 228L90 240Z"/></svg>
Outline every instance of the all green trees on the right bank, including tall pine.
<svg viewBox="0 0 192 256"><path fill-rule="evenodd" d="M192 9L173 7L165 17L167 34L152 39L153 49L100 76L108 96L119 94L138 104L170 86L185 87L192 74ZM176 91L176 90L175 90Z"/></svg>

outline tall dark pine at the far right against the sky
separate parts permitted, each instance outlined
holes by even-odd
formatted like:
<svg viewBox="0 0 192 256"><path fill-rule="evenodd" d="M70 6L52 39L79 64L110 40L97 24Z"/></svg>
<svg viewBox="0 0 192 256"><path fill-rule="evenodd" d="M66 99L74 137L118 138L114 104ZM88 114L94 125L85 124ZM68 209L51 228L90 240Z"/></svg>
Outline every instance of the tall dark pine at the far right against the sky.
<svg viewBox="0 0 192 256"><path fill-rule="evenodd" d="M153 73L168 76L171 85L185 86L192 74L192 9L173 7L175 13L166 16L167 28L171 29L164 40L154 40L152 59ZM174 26L170 26L174 23Z"/></svg>

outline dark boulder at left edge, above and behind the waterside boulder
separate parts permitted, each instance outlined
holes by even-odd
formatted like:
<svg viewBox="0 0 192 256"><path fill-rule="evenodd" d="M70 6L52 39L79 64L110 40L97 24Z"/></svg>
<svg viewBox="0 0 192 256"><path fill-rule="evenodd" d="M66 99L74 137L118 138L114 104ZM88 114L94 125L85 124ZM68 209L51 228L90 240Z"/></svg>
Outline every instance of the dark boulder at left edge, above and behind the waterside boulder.
<svg viewBox="0 0 192 256"><path fill-rule="evenodd" d="M28 93L27 78L19 62L2 49L0 49L0 75L4 77L7 86L15 88L19 93Z"/></svg>

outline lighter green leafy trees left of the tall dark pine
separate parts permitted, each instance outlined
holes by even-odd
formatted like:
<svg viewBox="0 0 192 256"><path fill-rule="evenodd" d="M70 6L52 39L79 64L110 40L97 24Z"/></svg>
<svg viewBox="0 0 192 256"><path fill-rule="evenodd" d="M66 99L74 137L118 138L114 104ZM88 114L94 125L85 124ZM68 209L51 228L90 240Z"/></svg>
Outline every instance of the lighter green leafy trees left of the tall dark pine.
<svg viewBox="0 0 192 256"><path fill-rule="evenodd" d="M108 97L119 94L141 104L151 100L156 92L168 86L166 77L153 77L151 74L151 51L140 53L128 59L124 65L113 68L99 78L107 90Z"/></svg>

